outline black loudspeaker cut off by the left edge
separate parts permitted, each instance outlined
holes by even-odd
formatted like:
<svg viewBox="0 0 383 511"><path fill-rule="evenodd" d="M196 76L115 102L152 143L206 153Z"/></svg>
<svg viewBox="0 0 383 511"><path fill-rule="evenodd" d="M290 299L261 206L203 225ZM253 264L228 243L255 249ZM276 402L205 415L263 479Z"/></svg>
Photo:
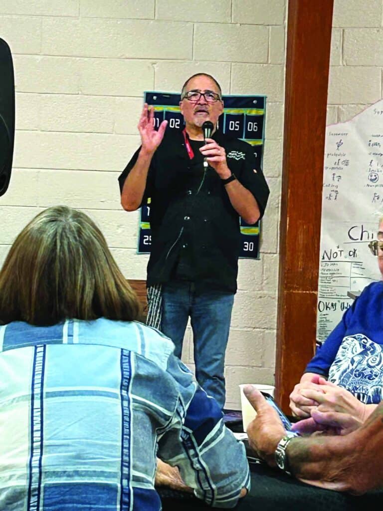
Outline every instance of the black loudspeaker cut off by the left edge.
<svg viewBox="0 0 383 511"><path fill-rule="evenodd" d="M8 44L0 38L0 196L11 178L15 138L15 79Z"/></svg>

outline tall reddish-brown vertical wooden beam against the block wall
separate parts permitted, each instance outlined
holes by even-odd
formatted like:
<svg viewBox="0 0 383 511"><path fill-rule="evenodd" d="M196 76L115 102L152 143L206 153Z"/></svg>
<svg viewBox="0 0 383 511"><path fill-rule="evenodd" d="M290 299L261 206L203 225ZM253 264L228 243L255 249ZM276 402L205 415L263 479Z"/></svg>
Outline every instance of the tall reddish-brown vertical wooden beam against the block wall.
<svg viewBox="0 0 383 511"><path fill-rule="evenodd" d="M315 349L332 8L333 0L289 0L276 351L286 412Z"/></svg>

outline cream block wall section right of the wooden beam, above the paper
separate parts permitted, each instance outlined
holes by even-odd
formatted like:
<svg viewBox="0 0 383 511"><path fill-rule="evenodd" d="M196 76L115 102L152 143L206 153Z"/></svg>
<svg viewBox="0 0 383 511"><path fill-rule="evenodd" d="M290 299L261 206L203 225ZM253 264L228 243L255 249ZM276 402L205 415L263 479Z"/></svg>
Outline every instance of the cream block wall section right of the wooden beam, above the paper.
<svg viewBox="0 0 383 511"><path fill-rule="evenodd" d="M382 98L383 1L334 0L327 124Z"/></svg>

